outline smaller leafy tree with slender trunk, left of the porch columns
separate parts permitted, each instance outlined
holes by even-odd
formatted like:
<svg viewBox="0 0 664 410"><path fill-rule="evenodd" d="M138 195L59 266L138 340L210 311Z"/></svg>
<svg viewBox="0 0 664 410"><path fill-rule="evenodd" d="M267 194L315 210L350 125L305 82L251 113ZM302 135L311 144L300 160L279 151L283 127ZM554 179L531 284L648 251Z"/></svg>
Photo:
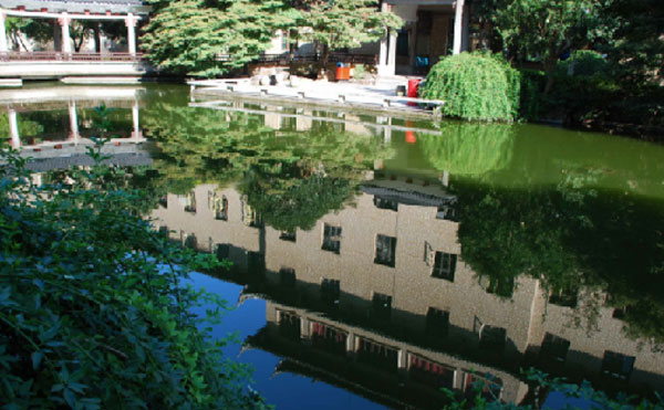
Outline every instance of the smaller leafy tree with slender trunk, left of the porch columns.
<svg viewBox="0 0 664 410"><path fill-rule="evenodd" d="M321 74L331 50L357 48L403 25L396 14L380 11L376 0L304 0L295 6L303 10L295 28L298 36L322 46Z"/></svg>

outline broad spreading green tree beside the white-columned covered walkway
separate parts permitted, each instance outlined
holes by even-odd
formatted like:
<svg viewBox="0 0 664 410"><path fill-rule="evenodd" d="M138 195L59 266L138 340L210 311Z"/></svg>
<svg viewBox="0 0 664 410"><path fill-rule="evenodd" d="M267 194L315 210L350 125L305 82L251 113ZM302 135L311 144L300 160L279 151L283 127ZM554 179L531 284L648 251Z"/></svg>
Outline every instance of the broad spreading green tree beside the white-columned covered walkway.
<svg viewBox="0 0 664 410"><path fill-rule="evenodd" d="M158 69L216 76L245 66L288 28L295 12L281 0L153 0L142 46Z"/></svg>

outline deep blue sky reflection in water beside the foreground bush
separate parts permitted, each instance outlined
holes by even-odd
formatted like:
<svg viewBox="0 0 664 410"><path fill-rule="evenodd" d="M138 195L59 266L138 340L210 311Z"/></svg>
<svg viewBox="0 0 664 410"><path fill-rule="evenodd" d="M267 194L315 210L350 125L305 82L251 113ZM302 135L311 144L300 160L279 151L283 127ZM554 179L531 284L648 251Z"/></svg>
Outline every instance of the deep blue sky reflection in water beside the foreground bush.
<svg viewBox="0 0 664 410"><path fill-rule="evenodd" d="M193 273L194 286L205 288L228 301L229 306L237 303L242 286L210 277L200 273ZM205 308L196 311L204 313ZM214 337L224 337L237 333L239 340L257 334L266 325L266 301L249 299L241 306L230 311L222 323L212 327ZM253 382L251 387L258 390L270 404L277 409L383 409L367 399L353 395L344 389L336 388L322 381L293 374L272 376L274 368L281 360L260 349L240 353L239 344L230 344L225 348L225 354L243 364L253 366Z"/></svg>

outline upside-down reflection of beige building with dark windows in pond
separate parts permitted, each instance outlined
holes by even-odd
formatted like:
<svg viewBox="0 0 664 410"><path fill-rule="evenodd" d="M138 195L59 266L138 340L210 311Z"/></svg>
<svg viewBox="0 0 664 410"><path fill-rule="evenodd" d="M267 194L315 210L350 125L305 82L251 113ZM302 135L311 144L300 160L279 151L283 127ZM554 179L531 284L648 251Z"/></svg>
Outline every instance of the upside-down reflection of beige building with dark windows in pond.
<svg viewBox="0 0 664 410"><path fill-rule="evenodd" d="M519 367L664 389L664 356L624 335L620 312L598 307L596 329L573 326L584 294L540 281L479 278L460 257L455 197L411 177L362 185L354 206L310 230L260 223L234 188L168 195L156 224L235 263L242 297L268 301L247 341L284 357L278 371L311 375L393 406L439 407L439 388L521 402ZM499 246L500 244L496 244Z"/></svg>

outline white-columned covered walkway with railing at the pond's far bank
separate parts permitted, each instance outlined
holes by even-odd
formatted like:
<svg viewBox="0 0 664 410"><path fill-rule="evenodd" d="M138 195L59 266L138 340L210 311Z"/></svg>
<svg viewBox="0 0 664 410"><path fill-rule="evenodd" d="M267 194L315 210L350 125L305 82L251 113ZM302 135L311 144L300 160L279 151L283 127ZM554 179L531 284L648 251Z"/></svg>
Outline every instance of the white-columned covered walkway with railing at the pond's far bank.
<svg viewBox="0 0 664 410"><path fill-rule="evenodd" d="M149 7L141 0L2 0L0 1L0 77L62 77L66 75L141 75L146 72L137 52L136 25L147 18ZM48 51L11 50L7 19L52 21L52 46ZM75 21L95 22L95 52L76 51L72 39ZM102 23L124 22L126 51L106 50ZM90 24L87 25L90 27ZM79 43L81 48L81 43Z"/></svg>

